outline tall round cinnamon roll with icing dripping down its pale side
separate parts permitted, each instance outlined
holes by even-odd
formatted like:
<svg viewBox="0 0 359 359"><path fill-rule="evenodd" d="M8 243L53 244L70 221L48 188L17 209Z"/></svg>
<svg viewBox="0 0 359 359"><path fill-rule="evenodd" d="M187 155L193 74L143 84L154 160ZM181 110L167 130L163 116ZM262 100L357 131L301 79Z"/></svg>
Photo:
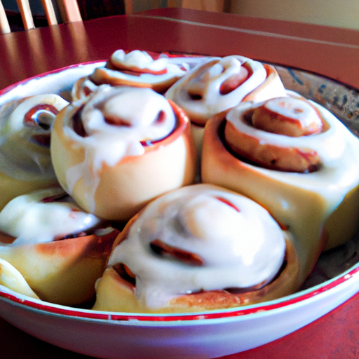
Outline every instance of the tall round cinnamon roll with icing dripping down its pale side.
<svg viewBox="0 0 359 359"><path fill-rule="evenodd" d="M149 88L100 86L70 104L55 121L51 154L81 208L117 221L193 183L196 172L187 116Z"/></svg>

